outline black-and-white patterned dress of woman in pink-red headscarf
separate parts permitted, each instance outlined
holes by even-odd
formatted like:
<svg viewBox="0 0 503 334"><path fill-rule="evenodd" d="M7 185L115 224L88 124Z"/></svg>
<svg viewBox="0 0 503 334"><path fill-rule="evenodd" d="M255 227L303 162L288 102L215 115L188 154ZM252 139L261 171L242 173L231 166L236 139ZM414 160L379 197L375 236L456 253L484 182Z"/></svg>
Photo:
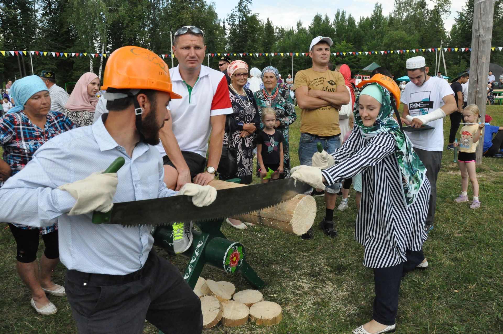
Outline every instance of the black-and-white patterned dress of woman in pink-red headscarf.
<svg viewBox="0 0 503 334"><path fill-rule="evenodd" d="M240 138L237 123L253 123L259 130L260 116L257 108L257 103L250 90L244 89L247 97L239 96L234 93L229 87L230 103L232 105L233 113L227 115L225 122L225 133L223 144L228 145L229 141L231 146L236 148L237 151L237 174L236 175L219 175L220 180L228 180L232 178L241 179L242 184L250 184L253 174L253 150L256 146L255 135ZM249 106L248 106L249 102ZM229 129L230 118L230 129Z"/></svg>

